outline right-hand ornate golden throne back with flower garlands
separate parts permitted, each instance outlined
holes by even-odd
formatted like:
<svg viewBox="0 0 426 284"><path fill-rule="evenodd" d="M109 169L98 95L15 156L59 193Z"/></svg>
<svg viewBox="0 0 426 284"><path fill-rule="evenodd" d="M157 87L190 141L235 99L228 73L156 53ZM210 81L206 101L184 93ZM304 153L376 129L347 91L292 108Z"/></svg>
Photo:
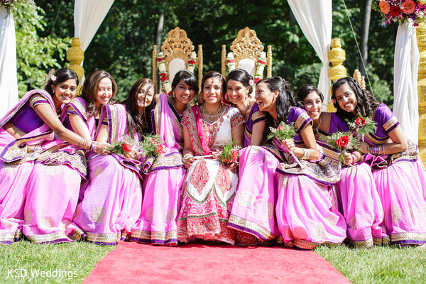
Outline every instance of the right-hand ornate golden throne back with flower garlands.
<svg viewBox="0 0 426 284"><path fill-rule="evenodd" d="M226 45L222 45L222 75L226 76L226 65L229 72L234 68L241 68L253 76L255 83L263 78L263 69L266 67L266 76L272 76L272 48L268 45L268 52L263 51L261 40L256 31L246 27L240 30L226 55Z"/></svg>

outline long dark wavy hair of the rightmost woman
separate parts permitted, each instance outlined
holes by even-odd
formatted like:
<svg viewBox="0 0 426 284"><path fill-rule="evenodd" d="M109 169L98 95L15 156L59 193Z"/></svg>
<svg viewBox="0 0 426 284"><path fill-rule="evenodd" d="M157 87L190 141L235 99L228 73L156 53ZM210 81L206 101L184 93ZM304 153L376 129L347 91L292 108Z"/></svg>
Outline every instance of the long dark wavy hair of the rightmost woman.
<svg viewBox="0 0 426 284"><path fill-rule="evenodd" d="M373 111L376 111L376 108L380 104L376 100L375 97L373 97L373 94L371 92L368 92L366 89L361 89L361 86L359 85L356 80L352 77L344 77L340 78L339 80L336 80L333 83L332 86L332 99L335 100L334 107L337 109L336 114L341 119L354 119L356 117L355 114L352 114L350 112L344 111L340 106L339 102L337 102L336 99L336 90L339 89L339 87L342 87L344 84L348 84L349 87L354 91L355 97L356 97L356 107L355 107L355 113L361 114L362 116L370 116L373 114Z"/></svg>

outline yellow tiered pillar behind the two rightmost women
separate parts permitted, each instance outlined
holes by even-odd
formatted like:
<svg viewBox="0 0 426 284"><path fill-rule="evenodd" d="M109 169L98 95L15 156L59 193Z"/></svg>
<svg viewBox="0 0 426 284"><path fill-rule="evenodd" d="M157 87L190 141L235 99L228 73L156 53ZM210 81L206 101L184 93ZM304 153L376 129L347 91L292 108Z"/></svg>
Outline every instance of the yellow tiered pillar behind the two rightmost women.
<svg viewBox="0 0 426 284"><path fill-rule="evenodd" d="M329 51L329 62L332 63L330 67L329 75L330 79L334 82L337 79L346 77L346 68L342 63L346 60L346 52L342 49L342 43L340 43L340 38L332 39L332 49ZM331 102L332 97L332 88L330 87L330 102L327 106L327 111L336 111L336 108Z"/></svg>

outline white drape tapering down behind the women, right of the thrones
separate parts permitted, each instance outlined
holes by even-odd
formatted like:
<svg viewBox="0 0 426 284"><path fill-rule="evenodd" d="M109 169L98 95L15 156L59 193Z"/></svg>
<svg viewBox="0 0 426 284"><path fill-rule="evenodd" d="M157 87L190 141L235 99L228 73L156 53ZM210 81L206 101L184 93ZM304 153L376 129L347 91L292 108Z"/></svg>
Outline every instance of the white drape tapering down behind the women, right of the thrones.
<svg viewBox="0 0 426 284"><path fill-rule="evenodd" d="M329 60L332 42L332 0L288 0L303 34L310 42L322 62L318 89L324 94L322 109L327 111L329 103Z"/></svg>

